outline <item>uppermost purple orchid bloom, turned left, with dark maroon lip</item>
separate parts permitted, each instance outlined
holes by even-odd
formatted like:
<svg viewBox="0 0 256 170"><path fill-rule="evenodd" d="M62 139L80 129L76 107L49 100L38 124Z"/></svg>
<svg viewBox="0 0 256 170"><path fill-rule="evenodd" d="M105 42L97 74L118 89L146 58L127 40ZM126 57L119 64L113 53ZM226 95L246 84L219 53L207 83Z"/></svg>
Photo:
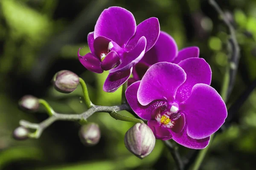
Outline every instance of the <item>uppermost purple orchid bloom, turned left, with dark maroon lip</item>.
<svg viewBox="0 0 256 170"><path fill-rule="evenodd" d="M125 8L105 9L87 40L91 53L79 55L85 68L95 73L109 70L103 85L106 92L114 92L130 77L132 67L150 50L160 34L158 19L151 17L138 26L133 14Z"/></svg>

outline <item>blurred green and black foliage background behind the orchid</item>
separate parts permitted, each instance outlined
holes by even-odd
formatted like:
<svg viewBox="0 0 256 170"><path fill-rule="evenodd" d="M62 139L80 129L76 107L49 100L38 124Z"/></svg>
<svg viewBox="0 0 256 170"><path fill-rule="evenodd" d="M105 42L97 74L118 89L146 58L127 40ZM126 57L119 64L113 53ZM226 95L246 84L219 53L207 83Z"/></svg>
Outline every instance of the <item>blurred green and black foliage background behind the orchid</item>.
<svg viewBox="0 0 256 170"><path fill-rule="evenodd" d="M256 78L256 1L217 0L234 24L241 46L241 60L229 107ZM174 169L168 149L157 141L154 151L140 160L125 149L123 138L133 123L117 121L108 113L96 113L88 120L100 125L98 145L85 147L78 137L76 122L55 122L40 139L15 141L12 131L20 119L41 122L47 118L18 109L25 94L46 99L61 113L82 113L81 88L61 94L51 85L62 69L82 77L97 105L118 105L120 89L102 91L108 73L93 74L77 58L99 14L109 6L122 6L139 24L157 17L161 30L175 38L179 49L197 45L200 57L212 68L212 87L220 91L227 65L228 30L207 0L0 0L0 170L160 170ZM256 169L256 91L232 122L215 138L202 170ZM122 112L131 116L127 112ZM179 146L182 156L191 152Z"/></svg>

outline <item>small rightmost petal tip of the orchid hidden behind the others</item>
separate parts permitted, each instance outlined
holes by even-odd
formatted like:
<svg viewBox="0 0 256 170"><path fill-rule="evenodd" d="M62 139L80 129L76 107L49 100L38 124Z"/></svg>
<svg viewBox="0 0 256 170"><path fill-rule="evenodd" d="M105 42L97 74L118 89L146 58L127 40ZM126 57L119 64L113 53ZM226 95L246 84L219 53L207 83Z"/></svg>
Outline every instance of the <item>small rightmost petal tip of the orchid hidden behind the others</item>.
<svg viewBox="0 0 256 170"><path fill-rule="evenodd" d="M172 63L178 64L180 61L188 58L199 57L199 48L198 47L186 47L179 51L177 57Z"/></svg>

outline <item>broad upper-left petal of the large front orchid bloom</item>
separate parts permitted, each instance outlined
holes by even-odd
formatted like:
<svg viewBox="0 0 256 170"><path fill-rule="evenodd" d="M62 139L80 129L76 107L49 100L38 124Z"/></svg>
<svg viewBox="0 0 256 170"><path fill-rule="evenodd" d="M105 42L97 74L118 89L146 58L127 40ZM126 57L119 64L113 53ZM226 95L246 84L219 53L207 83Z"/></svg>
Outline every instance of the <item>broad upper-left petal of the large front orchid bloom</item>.
<svg viewBox="0 0 256 170"><path fill-rule="evenodd" d="M183 69L169 62L152 65L145 73L138 90L138 101L148 105L154 100L173 101L177 88L186 80Z"/></svg>

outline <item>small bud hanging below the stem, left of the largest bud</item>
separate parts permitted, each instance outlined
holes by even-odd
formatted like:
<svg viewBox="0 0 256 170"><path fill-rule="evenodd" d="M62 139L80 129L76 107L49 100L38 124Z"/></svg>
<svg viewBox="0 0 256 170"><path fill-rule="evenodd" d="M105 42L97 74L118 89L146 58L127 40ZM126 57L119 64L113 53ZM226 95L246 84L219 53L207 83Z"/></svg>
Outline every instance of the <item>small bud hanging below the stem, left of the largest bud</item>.
<svg viewBox="0 0 256 170"><path fill-rule="evenodd" d="M96 123L83 125L79 131L81 142L86 146L93 146L99 143L100 130Z"/></svg>

